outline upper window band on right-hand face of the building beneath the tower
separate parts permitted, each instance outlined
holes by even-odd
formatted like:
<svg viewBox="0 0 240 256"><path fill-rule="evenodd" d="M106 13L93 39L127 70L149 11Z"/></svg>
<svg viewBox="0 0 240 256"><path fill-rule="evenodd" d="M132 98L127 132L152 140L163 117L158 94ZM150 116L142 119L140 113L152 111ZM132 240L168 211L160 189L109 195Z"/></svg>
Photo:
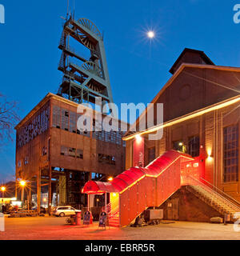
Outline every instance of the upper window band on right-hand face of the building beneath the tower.
<svg viewBox="0 0 240 256"><path fill-rule="evenodd" d="M78 122L78 118L80 117L81 117L81 114L77 114L73 111L61 109L59 106L53 106L53 126L54 127L58 129L70 131L71 133L74 133L74 134L82 134L90 137L89 131L83 131L83 130L77 129L77 122ZM98 125L99 127L99 124L96 124L94 120L93 126L95 127L96 125ZM102 125L100 124L100 127L101 126ZM93 131L92 136L97 140L101 140L104 142L112 142L117 145L126 146L126 142L122 142L123 134L124 133L121 132L120 130L118 131L112 130L110 132L106 132L105 130L102 130L102 131Z"/></svg>

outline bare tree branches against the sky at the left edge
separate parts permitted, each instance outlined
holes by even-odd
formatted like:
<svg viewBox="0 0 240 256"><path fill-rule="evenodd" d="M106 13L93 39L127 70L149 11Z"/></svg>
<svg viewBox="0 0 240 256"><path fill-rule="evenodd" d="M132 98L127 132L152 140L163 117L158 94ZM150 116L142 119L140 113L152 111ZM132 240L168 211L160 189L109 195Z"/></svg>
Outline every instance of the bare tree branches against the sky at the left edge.
<svg viewBox="0 0 240 256"><path fill-rule="evenodd" d="M14 141L14 126L20 121L17 114L18 103L9 101L0 94L0 140Z"/></svg>

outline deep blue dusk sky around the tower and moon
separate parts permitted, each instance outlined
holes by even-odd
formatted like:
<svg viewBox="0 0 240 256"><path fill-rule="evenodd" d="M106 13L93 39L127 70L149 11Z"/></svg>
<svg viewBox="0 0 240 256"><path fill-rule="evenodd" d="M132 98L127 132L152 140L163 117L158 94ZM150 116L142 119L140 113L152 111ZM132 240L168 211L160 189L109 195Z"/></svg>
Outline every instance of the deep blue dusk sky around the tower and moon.
<svg viewBox="0 0 240 256"><path fill-rule="evenodd" d="M70 0L71 2L72 0ZM150 102L170 78L185 47L204 50L217 65L240 66L240 24L230 0L75 0L75 18L89 18L104 31L114 102ZM1 90L19 103L23 118L48 92L56 93L58 42L66 0L0 0ZM154 30L156 38L146 39ZM0 148L0 182L14 177L15 142Z"/></svg>

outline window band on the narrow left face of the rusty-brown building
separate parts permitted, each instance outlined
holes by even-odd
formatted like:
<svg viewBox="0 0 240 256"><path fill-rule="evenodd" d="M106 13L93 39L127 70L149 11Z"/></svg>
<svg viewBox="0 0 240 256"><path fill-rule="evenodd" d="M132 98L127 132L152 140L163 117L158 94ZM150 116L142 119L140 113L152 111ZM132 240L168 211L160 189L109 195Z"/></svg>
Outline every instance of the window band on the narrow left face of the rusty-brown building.
<svg viewBox="0 0 240 256"><path fill-rule="evenodd" d="M50 108L40 111L38 115L28 122L25 126L18 130L17 134L17 147L21 148L37 137L39 134L44 133L49 128Z"/></svg>

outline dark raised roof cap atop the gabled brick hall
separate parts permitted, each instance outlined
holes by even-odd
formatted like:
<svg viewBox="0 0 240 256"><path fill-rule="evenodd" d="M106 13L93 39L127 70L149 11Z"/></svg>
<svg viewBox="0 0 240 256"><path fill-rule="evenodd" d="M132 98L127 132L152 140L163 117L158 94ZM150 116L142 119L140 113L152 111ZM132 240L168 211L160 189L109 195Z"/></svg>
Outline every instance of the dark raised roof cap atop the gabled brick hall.
<svg viewBox="0 0 240 256"><path fill-rule="evenodd" d="M184 60L184 56L187 53L198 54L199 55L198 61L196 61L196 60L194 61L193 59L191 59L189 61ZM210 58L207 57L206 54L202 50L194 50L194 49L190 49L190 48L185 48L182 51L182 54L180 54L180 56L176 60L176 62L174 62L174 65L170 68L170 73L174 74L176 72L176 66L179 65L179 62L182 62L182 63L186 62L186 63L191 63L191 64L202 64L202 63L199 62L200 59L202 59L202 61L205 62L206 65L214 65L214 62L212 62L210 60Z"/></svg>

